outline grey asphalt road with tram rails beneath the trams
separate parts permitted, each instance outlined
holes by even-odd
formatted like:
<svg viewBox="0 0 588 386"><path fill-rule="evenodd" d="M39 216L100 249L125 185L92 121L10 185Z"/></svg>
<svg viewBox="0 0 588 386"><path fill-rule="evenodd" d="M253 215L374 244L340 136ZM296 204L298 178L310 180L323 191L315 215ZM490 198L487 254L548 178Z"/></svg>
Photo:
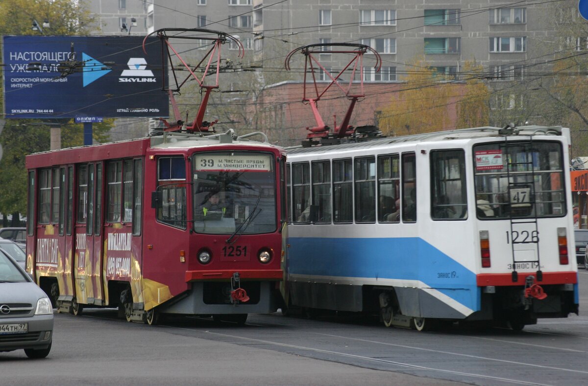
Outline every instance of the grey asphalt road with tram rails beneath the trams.
<svg viewBox="0 0 588 386"><path fill-rule="evenodd" d="M182 318L163 326L115 310L56 314L45 360L0 353L1 385L586 385L588 272L580 316L523 331L418 333L358 316L252 315L246 326Z"/></svg>

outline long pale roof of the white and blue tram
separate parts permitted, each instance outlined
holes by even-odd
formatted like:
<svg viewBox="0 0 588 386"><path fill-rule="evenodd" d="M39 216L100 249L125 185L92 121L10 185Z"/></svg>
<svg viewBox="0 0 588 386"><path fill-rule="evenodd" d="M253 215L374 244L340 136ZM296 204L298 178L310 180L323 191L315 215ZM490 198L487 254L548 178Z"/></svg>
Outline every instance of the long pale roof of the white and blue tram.
<svg viewBox="0 0 588 386"><path fill-rule="evenodd" d="M359 140L349 141L346 143L333 144L333 145L319 145L313 147L289 147L288 154L305 154L305 153L317 153L321 151L339 151L339 150L353 150L358 148L375 148L389 144L409 144L409 143L420 143L420 142L435 142L445 140L469 140L476 138L489 138L489 137L517 137L517 136L537 136L537 135L548 135L548 136L561 136L563 128L561 126L519 126L514 128L501 128L501 127L473 127L473 128L461 128L456 130L445 130L435 131L433 133L413 134L410 136L399 136L399 137L385 137L377 138L373 140Z"/></svg>

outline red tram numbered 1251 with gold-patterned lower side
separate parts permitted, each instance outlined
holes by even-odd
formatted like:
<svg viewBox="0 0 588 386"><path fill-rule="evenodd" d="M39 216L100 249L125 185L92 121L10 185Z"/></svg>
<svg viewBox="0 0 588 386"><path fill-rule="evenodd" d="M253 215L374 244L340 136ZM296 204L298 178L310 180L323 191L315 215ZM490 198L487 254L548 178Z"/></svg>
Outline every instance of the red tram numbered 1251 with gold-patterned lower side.
<svg viewBox="0 0 588 386"><path fill-rule="evenodd" d="M28 272L75 315L244 323L275 311L285 153L250 135L164 132L29 155Z"/></svg>

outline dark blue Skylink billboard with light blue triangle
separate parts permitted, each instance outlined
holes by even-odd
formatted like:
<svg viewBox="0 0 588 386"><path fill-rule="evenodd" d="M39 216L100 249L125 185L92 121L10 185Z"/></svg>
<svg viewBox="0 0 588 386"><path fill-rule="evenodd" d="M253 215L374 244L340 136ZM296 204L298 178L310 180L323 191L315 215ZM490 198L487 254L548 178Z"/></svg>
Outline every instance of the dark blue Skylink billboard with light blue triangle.
<svg viewBox="0 0 588 386"><path fill-rule="evenodd" d="M158 38L4 36L6 118L168 117Z"/></svg>

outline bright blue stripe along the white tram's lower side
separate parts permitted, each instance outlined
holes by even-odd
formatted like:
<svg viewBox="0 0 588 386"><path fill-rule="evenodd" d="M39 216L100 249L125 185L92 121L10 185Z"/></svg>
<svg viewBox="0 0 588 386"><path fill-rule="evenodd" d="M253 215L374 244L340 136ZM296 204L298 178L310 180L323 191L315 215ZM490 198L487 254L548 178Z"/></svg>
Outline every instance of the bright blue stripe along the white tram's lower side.
<svg viewBox="0 0 588 386"><path fill-rule="evenodd" d="M333 279L413 280L480 309L476 274L420 238L289 238L288 273ZM382 285L387 285L385 281Z"/></svg>

